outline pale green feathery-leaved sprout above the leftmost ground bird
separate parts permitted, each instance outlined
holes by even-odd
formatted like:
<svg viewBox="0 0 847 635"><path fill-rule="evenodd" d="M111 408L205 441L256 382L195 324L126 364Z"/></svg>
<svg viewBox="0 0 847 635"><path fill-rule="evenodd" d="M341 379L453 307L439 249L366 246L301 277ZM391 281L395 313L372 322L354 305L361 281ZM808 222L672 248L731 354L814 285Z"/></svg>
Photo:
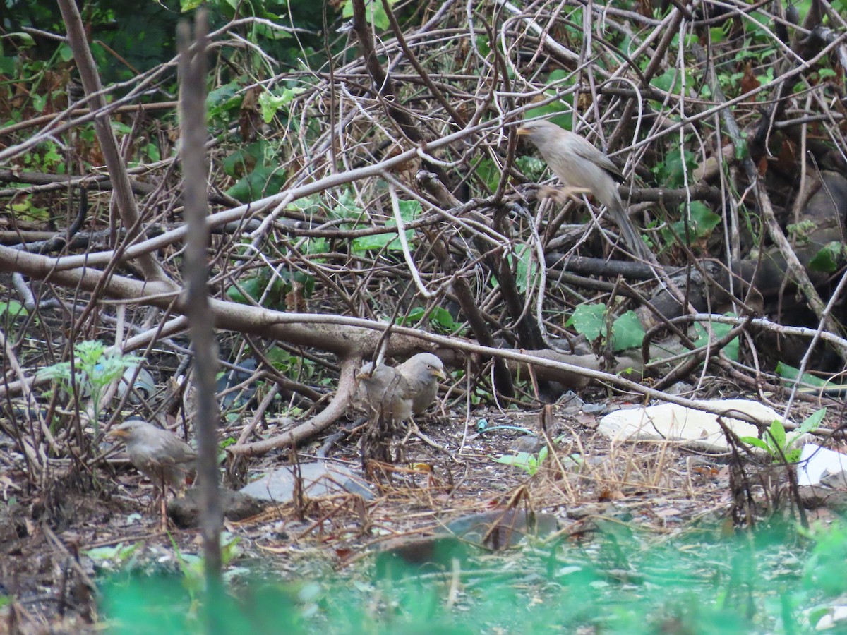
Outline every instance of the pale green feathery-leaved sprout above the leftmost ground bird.
<svg viewBox="0 0 847 635"><path fill-rule="evenodd" d="M120 351L107 349L97 340L86 340L74 346L74 370L70 371L70 362L58 362L42 368L36 378L51 379L67 395L80 389L80 395L91 395L94 434L100 433L100 400L109 384L123 376L125 370L142 362L141 357L123 355ZM75 375L75 376L74 376Z"/></svg>

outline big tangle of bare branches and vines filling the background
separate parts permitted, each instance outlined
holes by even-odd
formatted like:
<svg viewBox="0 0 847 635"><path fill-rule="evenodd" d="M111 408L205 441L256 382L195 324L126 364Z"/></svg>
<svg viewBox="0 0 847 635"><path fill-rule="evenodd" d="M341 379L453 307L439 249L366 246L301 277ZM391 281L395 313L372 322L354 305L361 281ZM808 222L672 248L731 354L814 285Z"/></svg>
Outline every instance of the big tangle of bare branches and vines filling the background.
<svg viewBox="0 0 847 635"><path fill-rule="evenodd" d="M551 381L656 396L717 376L778 390L778 363L843 367L844 19L826 0L802 20L769 7L348 0L351 21L328 10L319 34L252 16L214 30L215 325L244 335L225 348L248 347L292 404L319 411L318 377L340 376L307 425L262 441L248 426L233 451L334 422L352 370L381 349L436 351L464 371L459 403L480 389L538 398ZM5 312L5 395L28 395L33 369L76 339L185 356L174 63L92 97L97 68L69 36L73 71L3 89L18 123L0 130L0 178L14 184L0 270L14 273L7 306L28 310ZM285 59L268 52L278 40ZM77 71L80 102L64 90ZM538 196L550 174L515 130L540 116L612 157L655 260L629 262L587 201ZM97 143L94 121L112 122ZM810 345L816 330L826 346L819 334ZM639 345L643 356L620 354ZM19 441L42 464L48 445L79 439L71 429L33 426Z"/></svg>

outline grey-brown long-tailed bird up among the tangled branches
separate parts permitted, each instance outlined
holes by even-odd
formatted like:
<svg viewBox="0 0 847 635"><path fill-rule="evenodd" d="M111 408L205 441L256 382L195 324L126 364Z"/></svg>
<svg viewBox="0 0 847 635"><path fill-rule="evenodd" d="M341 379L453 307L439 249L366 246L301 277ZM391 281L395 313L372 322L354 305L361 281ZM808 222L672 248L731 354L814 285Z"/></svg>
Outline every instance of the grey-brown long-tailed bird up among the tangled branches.
<svg viewBox="0 0 847 635"><path fill-rule="evenodd" d="M634 255L647 258L649 250L627 216L621 196L617 193L615 180L623 180L623 174L609 157L592 146L590 141L562 130L550 121L528 121L518 128L518 135L526 135L538 148L553 174L562 181L567 196L594 195L608 208L621 230L623 240L634 251Z"/></svg>

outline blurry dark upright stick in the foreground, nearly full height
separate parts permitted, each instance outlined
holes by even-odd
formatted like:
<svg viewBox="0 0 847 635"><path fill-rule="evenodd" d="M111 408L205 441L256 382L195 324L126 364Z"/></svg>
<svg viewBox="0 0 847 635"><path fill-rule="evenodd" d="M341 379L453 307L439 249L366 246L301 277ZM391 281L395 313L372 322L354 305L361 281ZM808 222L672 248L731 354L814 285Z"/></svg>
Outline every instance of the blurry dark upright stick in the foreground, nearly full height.
<svg viewBox="0 0 847 635"><path fill-rule="evenodd" d="M191 345L194 351L194 384L197 387L197 478L201 500L203 564L208 593L207 610L222 599L223 578L220 531L224 515L218 490L218 402L215 400L215 353L212 315L208 308L206 224L208 169L206 167L206 47L208 23L205 9L197 12L197 38L191 42L191 26L182 22L177 30L180 47L180 124L183 196L188 240L185 246L186 298Z"/></svg>

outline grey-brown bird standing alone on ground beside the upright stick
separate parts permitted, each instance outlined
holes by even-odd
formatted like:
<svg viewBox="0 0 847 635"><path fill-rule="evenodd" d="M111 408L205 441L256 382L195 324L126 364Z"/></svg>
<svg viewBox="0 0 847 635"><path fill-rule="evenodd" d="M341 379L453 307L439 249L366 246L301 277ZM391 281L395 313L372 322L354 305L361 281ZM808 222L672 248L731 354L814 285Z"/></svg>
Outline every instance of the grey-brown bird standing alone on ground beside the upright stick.
<svg viewBox="0 0 847 635"><path fill-rule="evenodd" d="M194 472L197 452L176 434L141 419L131 417L108 434L122 440L130 463L149 478L159 489L162 502L162 523L167 525L165 512L166 486L181 491Z"/></svg>

